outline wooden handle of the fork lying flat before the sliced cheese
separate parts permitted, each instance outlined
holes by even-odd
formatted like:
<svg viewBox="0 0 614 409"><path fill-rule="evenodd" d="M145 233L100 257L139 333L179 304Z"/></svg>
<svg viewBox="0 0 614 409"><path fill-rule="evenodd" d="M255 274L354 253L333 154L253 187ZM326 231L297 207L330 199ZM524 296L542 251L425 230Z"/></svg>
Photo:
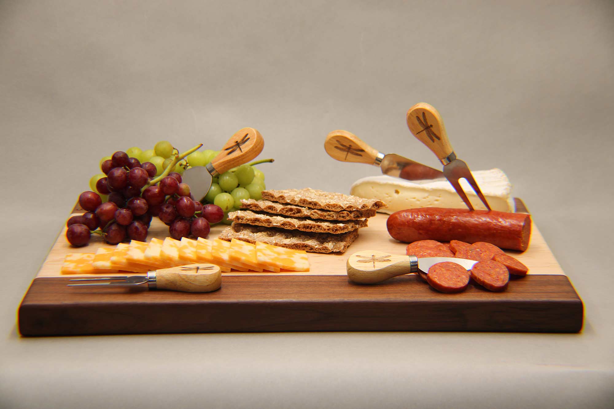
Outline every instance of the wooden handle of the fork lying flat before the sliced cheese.
<svg viewBox="0 0 614 409"><path fill-rule="evenodd" d="M183 292L211 292L222 286L222 273L215 264L190 264L155 272L156 287Z"/></svg>

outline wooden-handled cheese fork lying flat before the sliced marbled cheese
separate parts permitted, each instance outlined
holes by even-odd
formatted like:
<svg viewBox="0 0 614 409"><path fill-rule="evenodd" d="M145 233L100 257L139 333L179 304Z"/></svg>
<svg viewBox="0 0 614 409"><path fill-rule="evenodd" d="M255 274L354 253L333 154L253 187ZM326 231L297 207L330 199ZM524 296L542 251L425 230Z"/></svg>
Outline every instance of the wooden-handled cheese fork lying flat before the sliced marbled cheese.
<svg viewBox="0 0 614 409"><path fill-rule="evenodd" d="M149 271L146 276L113 276L76 278L70 281L88 281L74 286L138 286L146 284L150 290L172 290L182 292L211 292L222 286L222 273L215 264L189 264L181 267ZM92 282L106 281L106 282Z"/></svg>

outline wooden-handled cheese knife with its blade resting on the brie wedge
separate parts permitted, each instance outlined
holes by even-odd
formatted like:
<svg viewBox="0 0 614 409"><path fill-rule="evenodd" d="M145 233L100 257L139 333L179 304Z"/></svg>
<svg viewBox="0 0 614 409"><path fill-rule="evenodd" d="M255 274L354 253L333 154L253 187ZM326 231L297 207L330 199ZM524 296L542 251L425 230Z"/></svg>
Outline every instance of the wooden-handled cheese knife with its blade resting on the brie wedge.
<svg viewBox="0 0 614 409"><path fill-rule="evenodd" d="M329 133L324 142L324 149L333 159L379 166L383 174L402 177L408 181L430 181L444 177L443 172L414 160L397 154L385 155L348 131L336 130Z"/></svg>

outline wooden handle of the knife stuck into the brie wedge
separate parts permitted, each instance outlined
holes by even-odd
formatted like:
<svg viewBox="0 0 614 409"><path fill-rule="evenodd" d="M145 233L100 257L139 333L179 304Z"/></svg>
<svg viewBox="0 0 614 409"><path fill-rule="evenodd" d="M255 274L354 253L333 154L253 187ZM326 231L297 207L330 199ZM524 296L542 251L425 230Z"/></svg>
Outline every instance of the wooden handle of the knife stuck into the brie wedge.
<svg viewBox="0 0 614 409"><path fill-rule="evenodd" d="M341 162L358 162L368 165L375 165L375 159L379 154L377 149L365 144L355 134L343 130L329 133L324 142L324 149L330 157Z"/></svg>

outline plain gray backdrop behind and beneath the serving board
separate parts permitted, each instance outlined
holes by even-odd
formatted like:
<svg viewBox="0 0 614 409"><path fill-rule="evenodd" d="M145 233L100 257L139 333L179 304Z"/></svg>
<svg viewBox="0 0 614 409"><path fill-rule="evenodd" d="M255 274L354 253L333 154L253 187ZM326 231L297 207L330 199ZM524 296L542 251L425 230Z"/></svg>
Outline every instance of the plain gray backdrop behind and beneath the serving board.
<svg viewBox="0 0 614 409"><path fill-rule="evenodd" d="M613 23L611 1L0 1L0 405L608 406ZM583 333L15 332L101 157L254 127L268 187L348 192L379 171L325 154L338 128L438 165L405 124L420 101L472 169L507 173Z"/></svg>

